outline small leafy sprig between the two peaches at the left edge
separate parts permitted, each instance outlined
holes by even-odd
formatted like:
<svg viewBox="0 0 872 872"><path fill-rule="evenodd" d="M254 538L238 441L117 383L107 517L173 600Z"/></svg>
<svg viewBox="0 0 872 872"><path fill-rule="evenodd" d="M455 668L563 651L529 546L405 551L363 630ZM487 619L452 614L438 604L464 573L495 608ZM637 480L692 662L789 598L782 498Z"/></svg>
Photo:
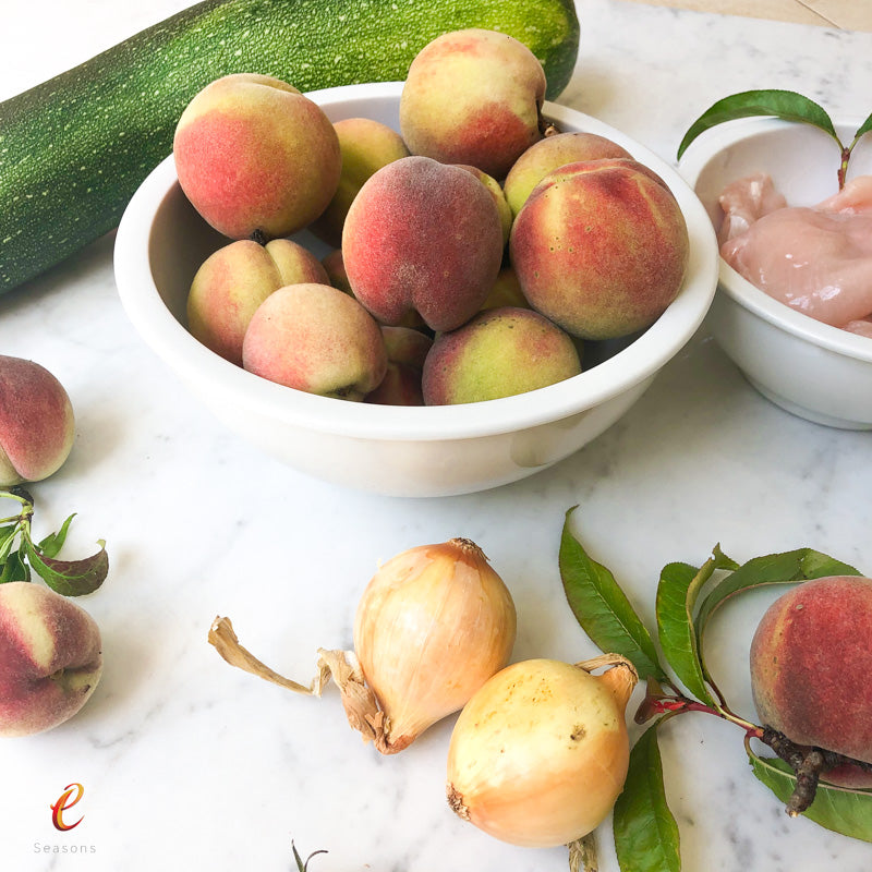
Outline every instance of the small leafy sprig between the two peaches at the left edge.
<svg viewBox="0 0 872 872"><path fill-rule="evenodd" d="M19 504L19 511L0 518L0 584L10 581L31 581L33 569L46 584L64 596L82 596L96 591L109 572L106 543L98 541L99 550L82 560L61 560L58 554L66 541L75 514L60 530L34 542L32 521L34 498L21 486L0 489L0 499Z"/></svg>

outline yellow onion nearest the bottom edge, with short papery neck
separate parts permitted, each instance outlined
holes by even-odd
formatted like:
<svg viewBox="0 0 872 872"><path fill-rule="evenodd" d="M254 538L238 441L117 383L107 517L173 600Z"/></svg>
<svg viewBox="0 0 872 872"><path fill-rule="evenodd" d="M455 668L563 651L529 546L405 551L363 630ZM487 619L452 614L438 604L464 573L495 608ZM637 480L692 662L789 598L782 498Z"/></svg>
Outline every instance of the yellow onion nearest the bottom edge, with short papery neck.
<svg viewBox="0 0 872 872"><path fill-rule="evenodd" d="M594 676L589 669L617 664ZM595 829L623 788L625 708L637 682L617 655L507 666L467 703L448 749L448 801L485 833L528 847Z"/></svg>

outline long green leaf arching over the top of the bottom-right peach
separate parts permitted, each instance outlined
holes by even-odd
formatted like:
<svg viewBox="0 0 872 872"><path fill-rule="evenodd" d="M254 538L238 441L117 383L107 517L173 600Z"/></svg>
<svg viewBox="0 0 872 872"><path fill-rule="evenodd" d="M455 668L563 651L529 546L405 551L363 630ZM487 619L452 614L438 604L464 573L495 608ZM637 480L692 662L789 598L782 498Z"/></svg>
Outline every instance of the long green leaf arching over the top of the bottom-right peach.
<svg viewBox="0 0 872 872"><path fill-rule="evenodd" d="M813 548L754 557L724 579L703 600L697 613L697 638L702 650L703 633L714 611L730 596L762 584L787 584L826 576L861 576L859 570Z"/></svg>

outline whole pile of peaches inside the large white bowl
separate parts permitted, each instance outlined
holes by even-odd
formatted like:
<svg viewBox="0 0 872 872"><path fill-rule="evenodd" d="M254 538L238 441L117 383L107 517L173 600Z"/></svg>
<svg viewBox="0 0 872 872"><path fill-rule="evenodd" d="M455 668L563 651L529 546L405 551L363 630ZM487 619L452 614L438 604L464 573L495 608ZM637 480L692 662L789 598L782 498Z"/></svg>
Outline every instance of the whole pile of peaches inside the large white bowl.
<svg viewBox="0 0 872 872"><path fill-rule="evenodd" d="M399 132L332 123L270 76L209 84L173 143L228 238L191 284L192 335L298 390L443 405L555 384L588 340L650 326L683 280L681 210L615 142L555 130L545 89L523 44L477 28L417 55Z"/></svg>

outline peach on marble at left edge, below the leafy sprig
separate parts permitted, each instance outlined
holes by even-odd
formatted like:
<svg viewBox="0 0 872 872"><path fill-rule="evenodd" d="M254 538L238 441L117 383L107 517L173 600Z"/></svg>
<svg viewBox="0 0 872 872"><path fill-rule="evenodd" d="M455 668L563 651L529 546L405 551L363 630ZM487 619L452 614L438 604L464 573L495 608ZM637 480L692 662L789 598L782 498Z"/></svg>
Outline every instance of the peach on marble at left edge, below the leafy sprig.
<svg viewBox="0 0 872 872"><path fill-rule="evenodd" d="M62 724L101 674L100 631L81 606L36 582L0 584L0 736Z"/></svg>

